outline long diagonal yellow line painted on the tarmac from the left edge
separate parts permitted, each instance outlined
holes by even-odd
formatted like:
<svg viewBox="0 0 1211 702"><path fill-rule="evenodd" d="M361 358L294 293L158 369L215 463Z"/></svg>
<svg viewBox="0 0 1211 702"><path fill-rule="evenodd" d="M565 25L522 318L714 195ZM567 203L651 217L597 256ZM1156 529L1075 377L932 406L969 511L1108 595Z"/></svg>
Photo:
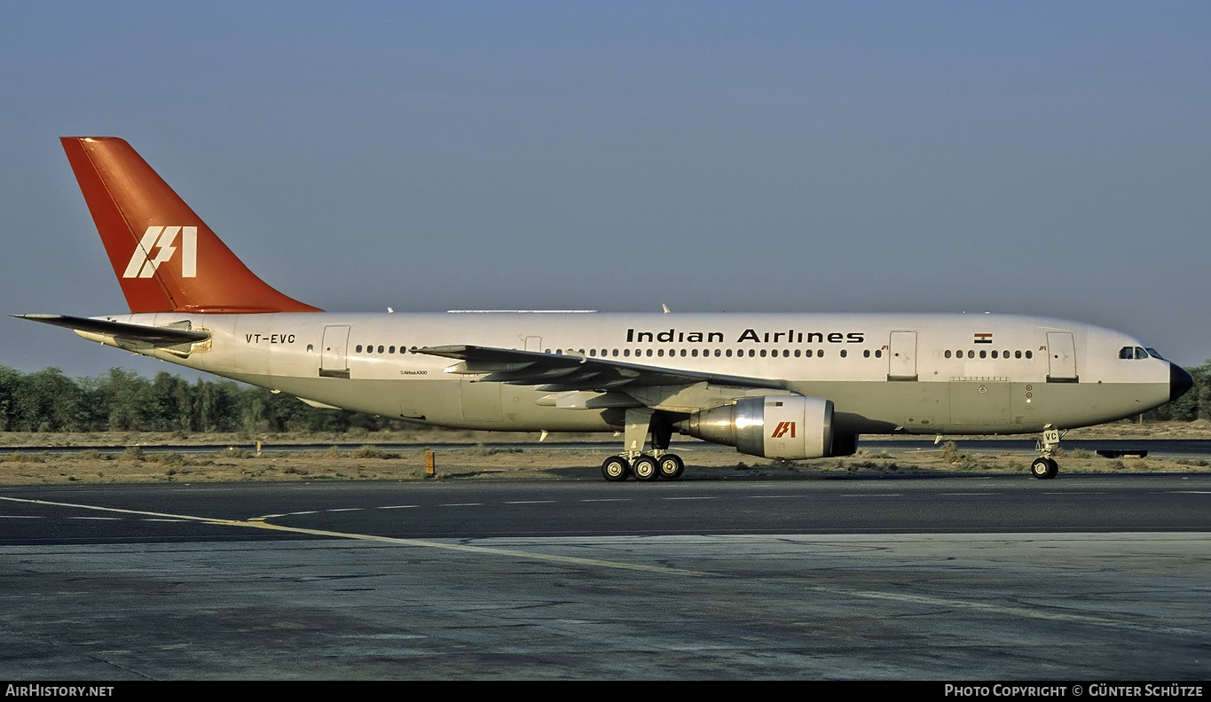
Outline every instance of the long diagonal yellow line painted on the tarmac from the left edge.
<svg viewBox="0 0 1211 702"><path fill-rule="evenodd" d="M346 531L329 531L326 529L303 529L299 526L281 526L256 519L218 519L214 517L195 517L191 514L167 514L163 512L145 512L142 510L121 510L117 507L99 507L97 505L75 505L71 502L51 502L48 500L24 500L21 497L0 497L10 502L24 502L27 505L51 505L54 507L73 507L76 510L96 510L99 512L116 512L119 514L138 514L140 517L160 517L172 519L188 519L203 524L220 524L224 526L243 526L251 529L268 529L270 531L285 531L288 534L306 534L309 536L327 536L329 539L351 539L355 541L373 541L377 543L394 543L397 546L417 546L421 548L441 548L444 551L461 551L464 553L480 553L483 556L505 556L510 558L522 558L527 560L546 560L552 563L566 563L569 565L593 565L597 568L615 568L621 570L638 570L644 572L660 572L664 575L684 575L689 577L708 577L713 574L700 570L685 570L681 568L664 568L660 565L639 565L635 563L621 563L618 560L603 560L598 558L578 558L575 556L552 556L546 553L530 553L528 551L516 551L512 548L489 548L486 546L467 546L463 543L438 543L436 541L423 541L419 539L398 539L396 536L374 536L373 534L350 534ZM258 519L264 519L260 517Z"/></svg>

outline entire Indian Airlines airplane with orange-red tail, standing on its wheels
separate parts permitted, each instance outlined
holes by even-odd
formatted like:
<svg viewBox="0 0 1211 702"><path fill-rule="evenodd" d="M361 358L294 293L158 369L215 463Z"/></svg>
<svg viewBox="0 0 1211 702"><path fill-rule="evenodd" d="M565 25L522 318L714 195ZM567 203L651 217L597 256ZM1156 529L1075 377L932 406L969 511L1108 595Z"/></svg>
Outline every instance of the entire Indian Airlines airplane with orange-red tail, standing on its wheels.
<svg viewBox="0 0 1211 702"><path fill-rule="evenodd" d="M125 140L61 140L130 313L15 316L320 408L621 433L607 481L681 477L675 432L781 460L860 435L1039 433L1048 479L1068 430L1193 385L1132 336L1038 316L325 312L248 270Z"/></svg>

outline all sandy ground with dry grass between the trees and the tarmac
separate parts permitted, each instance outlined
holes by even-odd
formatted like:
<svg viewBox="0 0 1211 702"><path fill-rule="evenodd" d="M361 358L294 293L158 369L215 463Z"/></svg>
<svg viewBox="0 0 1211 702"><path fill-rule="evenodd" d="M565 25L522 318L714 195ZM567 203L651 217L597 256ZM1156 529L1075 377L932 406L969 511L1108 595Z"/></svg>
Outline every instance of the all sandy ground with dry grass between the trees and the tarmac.
<svg viewBox="0 0 1211 702"><path fill-rule="evenodd" d="M263 450L254 450L257 439ZM874 438L874 437L872 437ZM882 438L882 437L880 437ZM1021 437L1010 437L1021 438ZM1120 422L1074 430L1066 438L1211 438L1211 422ZM494 442L533 442L533 447L494 445ZM0 433L0 484L39 483L218 483L243 481L412 481L425 478L425 449L402 451L375 444L461 443L436 451L437 479L475 477L528 479L601 479L602 459L618 441L609 435L551 435L546 441L601 441L602 449L556 449L538 442L538 435L452 432L420 430L350 435L297 435L251 437L240 435L183 433ZM360 449L329 448L317 451L275 451L274 445L356 444ZM144 447L214 445L233 448L213 453L151 453ZM5 453L2 447L130 447L121 454L84 449L69 454ZM859 444L861 447L861 444ZM677 453L693 476L716 478L792 477L843 474L1026 474L1033 456L1011 453L974 453L939 443L932 450L863 450L839 459L770 461L739 454L727 447L678 441ZM1061 449L1062 451L1062 449ZM1207 472L1207 461L1158 459L1103 459L1081 450L1057 455L1062 472Z"/></svg>

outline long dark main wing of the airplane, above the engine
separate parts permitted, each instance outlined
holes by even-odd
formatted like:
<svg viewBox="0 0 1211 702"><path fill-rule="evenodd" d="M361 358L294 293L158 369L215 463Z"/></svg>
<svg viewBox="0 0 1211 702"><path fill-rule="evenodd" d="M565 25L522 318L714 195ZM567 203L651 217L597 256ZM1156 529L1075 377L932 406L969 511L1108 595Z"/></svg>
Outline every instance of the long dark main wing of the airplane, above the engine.
<svg viewBox="0 0 1211 702"><path fill-rule="evenodd" d="M681 368L662 368L569 353L543 353L490 346L426 346L417 350L430 356L461 361L448 373L486 374L481 382L535 385L544 392L620 390L632 397L652 396L648 390L678 386L714 385L736 389L785 390L782 380L702 373ZM665 393L659 393L665 395ZM642 399L644 404L650 404Z"/></svg>

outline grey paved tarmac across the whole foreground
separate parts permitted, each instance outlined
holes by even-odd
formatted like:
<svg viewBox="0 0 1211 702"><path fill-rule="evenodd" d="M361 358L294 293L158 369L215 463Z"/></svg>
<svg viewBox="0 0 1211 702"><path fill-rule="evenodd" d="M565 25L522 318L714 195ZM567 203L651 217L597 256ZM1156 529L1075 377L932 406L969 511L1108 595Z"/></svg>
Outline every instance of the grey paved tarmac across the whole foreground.
<svg viewBox="0 0 1211 702"><path fill-rule="evenodd" d="M1211 476L0 489L18 679L1205 679Z"/></svg>

